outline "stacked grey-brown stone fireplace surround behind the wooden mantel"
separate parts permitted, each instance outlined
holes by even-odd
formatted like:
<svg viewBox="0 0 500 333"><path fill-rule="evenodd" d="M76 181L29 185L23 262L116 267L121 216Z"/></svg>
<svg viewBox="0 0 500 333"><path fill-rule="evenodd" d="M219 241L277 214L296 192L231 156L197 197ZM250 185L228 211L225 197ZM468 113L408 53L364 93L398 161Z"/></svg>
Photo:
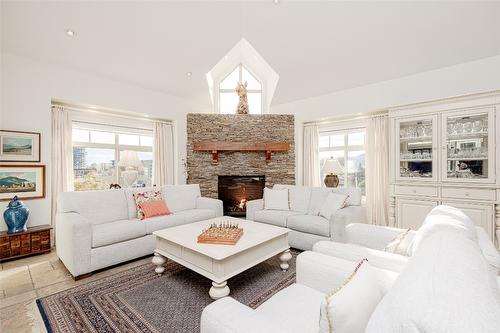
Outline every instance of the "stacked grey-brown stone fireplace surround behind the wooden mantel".
<svg viewBox="0 0 500 333"><path fill-rule="evenodd" d="M187 115L187 182L200 184L203 196L217 198L217 177L266 176L266 187L295 183L295 143L293 115ZM272 152L266 163L265 152L219 152L219 163L212 164L208 151L194 151L199 141L287 142L290 150Z"/></svg>

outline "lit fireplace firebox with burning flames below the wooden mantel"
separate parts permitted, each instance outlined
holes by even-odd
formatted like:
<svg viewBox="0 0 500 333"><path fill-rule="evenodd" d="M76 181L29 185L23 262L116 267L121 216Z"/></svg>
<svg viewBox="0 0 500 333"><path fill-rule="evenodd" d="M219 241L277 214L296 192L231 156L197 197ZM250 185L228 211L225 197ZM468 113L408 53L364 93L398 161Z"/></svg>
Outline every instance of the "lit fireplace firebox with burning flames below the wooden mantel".
<svg viewBox="0 0 500 333"><path fill-rule="evenodd" d="M219 199L224 206L224 215L245 216L246 203L262 199L265 176L219 176Z"/></svg>

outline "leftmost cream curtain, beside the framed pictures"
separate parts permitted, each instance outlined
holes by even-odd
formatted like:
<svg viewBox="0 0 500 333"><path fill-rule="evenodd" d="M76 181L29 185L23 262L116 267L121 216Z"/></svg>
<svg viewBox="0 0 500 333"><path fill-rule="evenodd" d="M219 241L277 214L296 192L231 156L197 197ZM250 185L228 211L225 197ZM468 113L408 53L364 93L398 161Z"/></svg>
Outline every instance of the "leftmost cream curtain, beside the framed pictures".
<svg viewBox="0 0 500 333"><path fill-rule="evenodd" d="M56 224L57 198L60 193L73 191L73 147L71 120L63 106L52 106L51 138L51 221ZM54 232L55 234L55 232Z"/></svg>

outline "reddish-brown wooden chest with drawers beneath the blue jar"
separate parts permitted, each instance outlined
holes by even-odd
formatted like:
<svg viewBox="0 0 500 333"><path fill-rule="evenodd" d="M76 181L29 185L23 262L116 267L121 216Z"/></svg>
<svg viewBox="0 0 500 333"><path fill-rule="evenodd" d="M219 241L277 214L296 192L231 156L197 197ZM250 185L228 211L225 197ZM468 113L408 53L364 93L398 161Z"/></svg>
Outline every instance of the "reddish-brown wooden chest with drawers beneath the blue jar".
<svg viewBox="0 0 500 333"><path fill-rule="evenodd" d="M0 261L50 252L51 229L49 225L42 225L13 234L0 232Z"/></svg>

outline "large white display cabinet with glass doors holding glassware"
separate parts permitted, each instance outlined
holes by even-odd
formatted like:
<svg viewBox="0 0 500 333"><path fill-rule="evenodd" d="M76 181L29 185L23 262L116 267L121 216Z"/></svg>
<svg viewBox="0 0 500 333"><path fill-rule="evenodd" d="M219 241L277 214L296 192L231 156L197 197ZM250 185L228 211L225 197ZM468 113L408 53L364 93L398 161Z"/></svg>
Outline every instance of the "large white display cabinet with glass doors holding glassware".
<svg viewBox="0 0 500 333"><path fill-rule="evenodd" d="M498 246L500 92L389 110L389 224L418 229L436 205L462 209Z"/></svg>

